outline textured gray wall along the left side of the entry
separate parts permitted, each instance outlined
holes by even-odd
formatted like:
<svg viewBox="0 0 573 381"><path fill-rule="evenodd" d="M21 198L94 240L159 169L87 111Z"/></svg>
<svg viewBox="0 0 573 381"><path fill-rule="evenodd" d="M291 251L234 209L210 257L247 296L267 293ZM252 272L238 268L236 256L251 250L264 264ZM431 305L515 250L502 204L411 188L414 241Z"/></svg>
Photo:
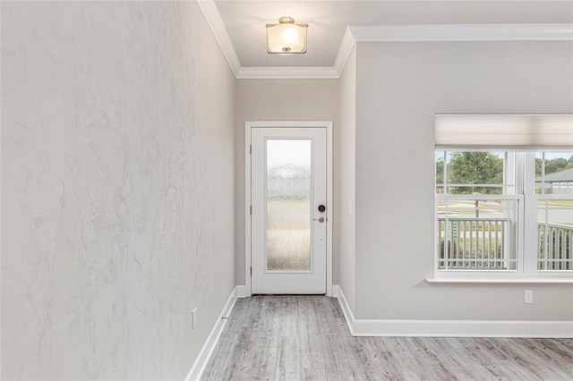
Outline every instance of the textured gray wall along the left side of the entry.
<svg viewBox="0 0 573 381"><path fill-rule="evenodd" d="M3 379L186 376L235 286L234 97L195 2L2 3Z"/></svg>

